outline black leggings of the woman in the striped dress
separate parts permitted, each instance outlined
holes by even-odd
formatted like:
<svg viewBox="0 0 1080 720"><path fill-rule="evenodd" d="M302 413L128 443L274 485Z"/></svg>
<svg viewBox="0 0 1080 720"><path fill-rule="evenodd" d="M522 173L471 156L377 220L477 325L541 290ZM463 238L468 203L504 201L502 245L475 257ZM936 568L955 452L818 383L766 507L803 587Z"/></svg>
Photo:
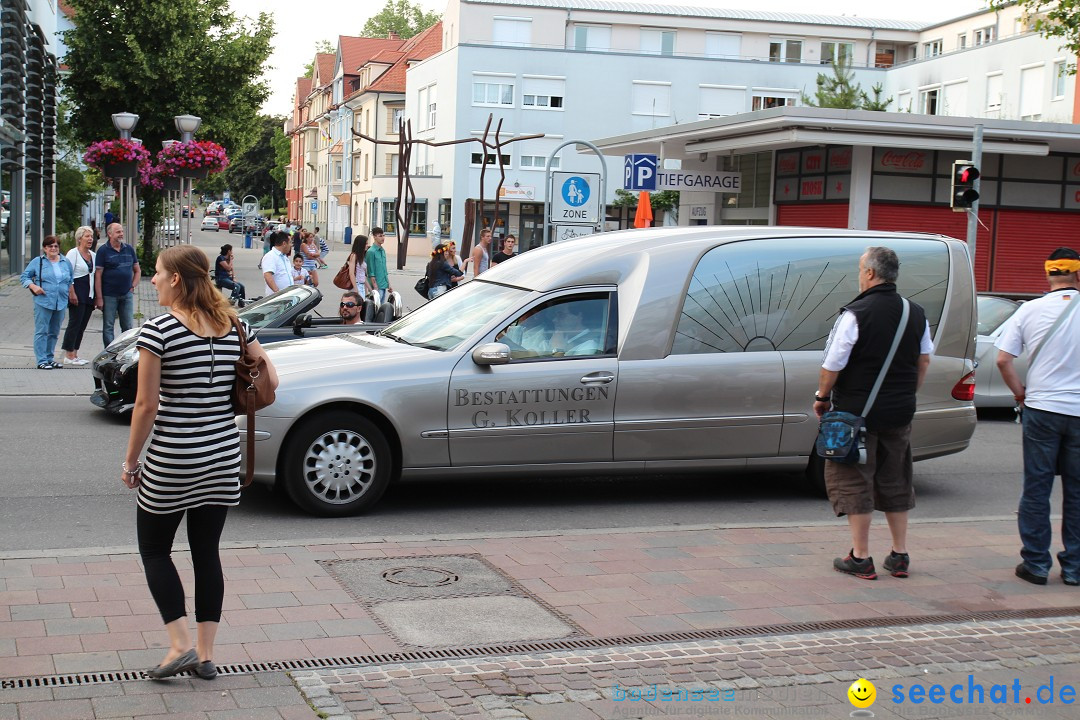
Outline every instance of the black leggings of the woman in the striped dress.
<svg viewBox="0 0 1080 720"><path fill-rule="evenodd" d="M162 515L139 507L136 515L138 554L143 557L146 582L166 625L187 614L184 585L172 558L173 539L185 512L188 514L188 547L195 571L195 622L217 623L221 621L221 600L225 598L225 578L217 548L228 506L202 505Z"/></svg>

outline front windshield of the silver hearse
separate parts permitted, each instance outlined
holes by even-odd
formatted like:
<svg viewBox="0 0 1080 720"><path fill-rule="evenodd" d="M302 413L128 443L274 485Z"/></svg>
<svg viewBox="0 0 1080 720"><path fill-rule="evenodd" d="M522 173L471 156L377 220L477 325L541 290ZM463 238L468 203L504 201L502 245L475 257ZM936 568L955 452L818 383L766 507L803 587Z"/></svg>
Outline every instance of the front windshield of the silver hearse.
<svg viewBox="0 0 1080 720"><path fill-rule="evenodd" d="M414 310L379 335L420 348L453 350L528 295L516 287L473 281Z"/></svg>

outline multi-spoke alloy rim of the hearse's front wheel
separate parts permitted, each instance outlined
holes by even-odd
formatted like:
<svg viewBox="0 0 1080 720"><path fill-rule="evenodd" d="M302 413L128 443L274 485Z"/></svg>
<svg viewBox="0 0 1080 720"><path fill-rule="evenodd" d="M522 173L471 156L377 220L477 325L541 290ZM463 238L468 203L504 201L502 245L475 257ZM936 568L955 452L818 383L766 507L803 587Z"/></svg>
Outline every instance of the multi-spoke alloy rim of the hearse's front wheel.
<svg viewBox="0 0 1080 720"><path fill-rule="evenodd" d="M353 502L375 479L375 449L351 430L323 433L303 454L303 481L308 491L332 505Z"/></svg>

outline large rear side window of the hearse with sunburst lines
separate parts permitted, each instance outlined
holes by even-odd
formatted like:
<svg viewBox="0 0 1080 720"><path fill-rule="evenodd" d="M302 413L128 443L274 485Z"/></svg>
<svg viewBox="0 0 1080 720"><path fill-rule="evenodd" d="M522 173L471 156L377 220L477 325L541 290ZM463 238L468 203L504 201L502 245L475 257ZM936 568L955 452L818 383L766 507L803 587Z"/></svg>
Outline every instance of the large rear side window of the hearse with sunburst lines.
<svg viewBox="0 0 1080 720"><path fill-rule="evenodd" d="M902 239L889 247L900 257L897 289L922 305L933 335L948 289L948 247ZM824 350L840 309L859 295L861 254L850 240L827 237L713 248L690 279L672 354Z"/></svg>

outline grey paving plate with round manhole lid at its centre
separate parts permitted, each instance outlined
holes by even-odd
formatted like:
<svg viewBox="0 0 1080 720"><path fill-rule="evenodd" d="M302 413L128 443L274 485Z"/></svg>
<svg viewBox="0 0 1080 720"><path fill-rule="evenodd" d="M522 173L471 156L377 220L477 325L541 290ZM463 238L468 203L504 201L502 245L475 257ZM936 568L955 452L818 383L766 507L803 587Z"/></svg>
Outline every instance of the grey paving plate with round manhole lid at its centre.
<svg viewBox="0 0 1080 720"><path fill-rule="evenodd" d="M517 585L478 557L440 555L325 560L321 565L357 601L523 595Z"/></svg>

